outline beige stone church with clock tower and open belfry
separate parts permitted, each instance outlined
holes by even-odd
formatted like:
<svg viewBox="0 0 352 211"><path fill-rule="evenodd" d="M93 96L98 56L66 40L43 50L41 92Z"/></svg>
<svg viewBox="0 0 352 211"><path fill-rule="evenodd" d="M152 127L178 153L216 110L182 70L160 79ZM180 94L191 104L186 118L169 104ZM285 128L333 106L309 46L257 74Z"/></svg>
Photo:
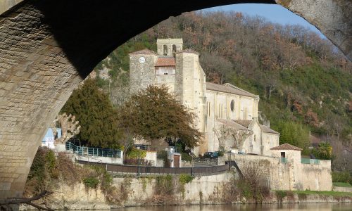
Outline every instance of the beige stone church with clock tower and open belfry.
<svg viewBox="0 0 352 211"><path fill-rule="evenodd" d="M279 133L258 122L259 96L232 84L206 82L199 53L182 45L182 39L158 39L157 52L130 53L130 92L166 84L197 115L194 122L204 139L196 155L221 150L272 155Z"/></svg>

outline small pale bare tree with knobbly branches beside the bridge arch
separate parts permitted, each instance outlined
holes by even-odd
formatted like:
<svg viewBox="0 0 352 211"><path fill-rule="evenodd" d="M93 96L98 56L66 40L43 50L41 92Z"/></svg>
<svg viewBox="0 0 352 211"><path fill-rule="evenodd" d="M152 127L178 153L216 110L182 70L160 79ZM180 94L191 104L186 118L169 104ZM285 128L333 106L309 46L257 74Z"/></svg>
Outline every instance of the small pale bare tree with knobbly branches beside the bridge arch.
<svg viewBox="0 0 352 211"><path fill-rule="evenodd" d="M79 125L79 121L75 121L76 117L74 115L66 115L63 113L58 115L56 119L51 123L51 128L53 129L54 134L54 144L65 143L73 136L80 133L81 126ZM56 125L61 127L61 137L58 138L58 131L56 129Z"/></svg>

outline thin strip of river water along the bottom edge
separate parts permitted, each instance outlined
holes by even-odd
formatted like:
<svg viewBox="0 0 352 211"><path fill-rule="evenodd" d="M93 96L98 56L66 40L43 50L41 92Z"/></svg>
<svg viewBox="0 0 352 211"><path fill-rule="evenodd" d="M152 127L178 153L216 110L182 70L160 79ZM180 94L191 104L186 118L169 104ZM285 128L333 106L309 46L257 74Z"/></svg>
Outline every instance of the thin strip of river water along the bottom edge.
<svg viewBox="0 0 352 211"><path fill-rule="evenodd" d="M193 206L164 206L164 207L127 207L113 211L213 211L213 210L238 210L238 211L351 211L352 204L285 204L285 205L193 205Z"/></svg>

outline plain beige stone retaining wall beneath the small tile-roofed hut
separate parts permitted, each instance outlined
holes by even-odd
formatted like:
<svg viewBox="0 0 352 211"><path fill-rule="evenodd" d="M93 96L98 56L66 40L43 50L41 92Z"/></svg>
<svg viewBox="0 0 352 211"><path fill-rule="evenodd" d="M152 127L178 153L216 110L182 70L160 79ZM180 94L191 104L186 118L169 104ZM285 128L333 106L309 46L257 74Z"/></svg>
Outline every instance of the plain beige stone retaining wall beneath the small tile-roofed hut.
<svg viewBox="0 0 352 211"><path fill-rule="evenodd" d="M244 170L251 165L260 171L273 190L332 191L331 164L320 160L319 165L302 164L300 161L280 162L279 158L263 155L228 155Z"/></svg>

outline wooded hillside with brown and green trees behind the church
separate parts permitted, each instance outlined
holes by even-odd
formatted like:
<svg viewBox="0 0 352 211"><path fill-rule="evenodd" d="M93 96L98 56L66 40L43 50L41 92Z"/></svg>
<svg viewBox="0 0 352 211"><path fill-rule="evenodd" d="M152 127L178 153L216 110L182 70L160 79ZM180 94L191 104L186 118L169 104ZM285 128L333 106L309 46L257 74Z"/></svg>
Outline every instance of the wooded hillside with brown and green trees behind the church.
<svg viewBox="0 0 352 211"><path fill-rule="evenodd" d="M351 62L306 28L241 13L184 13L115 49L95 68L110 75L111 83L98 81L114 104L127 96L128 53L156 51L156 39L168 37L182 37L184 49L200 53L208 81L230 82L260 95L262 117L281 132L281 143L307 149L312 132L318 142L352 145Z"/></svg>

